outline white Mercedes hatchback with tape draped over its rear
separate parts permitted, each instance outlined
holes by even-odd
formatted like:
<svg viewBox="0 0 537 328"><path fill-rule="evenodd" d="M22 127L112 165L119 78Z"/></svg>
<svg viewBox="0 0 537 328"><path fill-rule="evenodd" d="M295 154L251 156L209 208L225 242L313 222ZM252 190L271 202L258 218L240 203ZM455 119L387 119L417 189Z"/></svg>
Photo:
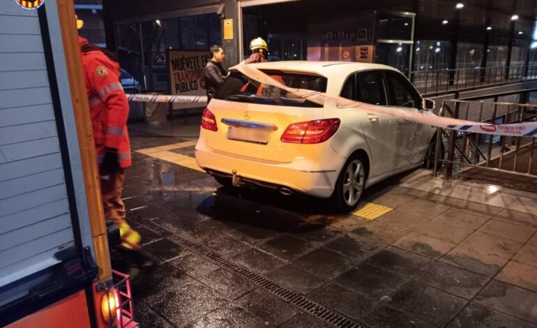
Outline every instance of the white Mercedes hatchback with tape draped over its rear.
<svg viewBox="0 0 537 328"><path fill-rule="evenodd" d="M378 64L279 61L250 64L288 87L432 114L398 70ZM372 106L365 106L371 108ZM223 185L256 184L330 198L351 211L365 188L423 165L436 128L388 114L318 105L231 70L203 112L196 161Z"/></svg>

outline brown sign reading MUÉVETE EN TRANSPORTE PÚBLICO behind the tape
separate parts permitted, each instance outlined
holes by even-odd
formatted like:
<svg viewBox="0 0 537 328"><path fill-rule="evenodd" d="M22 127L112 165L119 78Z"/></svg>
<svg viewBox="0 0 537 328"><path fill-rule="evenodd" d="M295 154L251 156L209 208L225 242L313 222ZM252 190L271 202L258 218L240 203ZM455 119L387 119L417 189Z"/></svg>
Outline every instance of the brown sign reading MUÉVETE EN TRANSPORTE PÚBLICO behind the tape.
<svg viewBox="0 0 537 328"><path fill-rule="evenodd" d="M206 96L203 68L209 60L209 50L168 50L169 92L174 96ZM195 103L174 103L179 108L199 107Z"/></svg>

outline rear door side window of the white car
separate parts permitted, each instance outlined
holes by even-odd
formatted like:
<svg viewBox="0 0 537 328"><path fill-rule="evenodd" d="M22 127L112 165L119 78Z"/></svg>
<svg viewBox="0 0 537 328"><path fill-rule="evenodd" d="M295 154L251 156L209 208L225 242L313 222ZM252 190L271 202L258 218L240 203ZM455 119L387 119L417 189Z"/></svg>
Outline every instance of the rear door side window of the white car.
<svg viewBox="0 0 537 328"><path fill-rule="evenodd" d="M356 74L356 100L372 105L386 105L382 73L370 70Z"/></svg>

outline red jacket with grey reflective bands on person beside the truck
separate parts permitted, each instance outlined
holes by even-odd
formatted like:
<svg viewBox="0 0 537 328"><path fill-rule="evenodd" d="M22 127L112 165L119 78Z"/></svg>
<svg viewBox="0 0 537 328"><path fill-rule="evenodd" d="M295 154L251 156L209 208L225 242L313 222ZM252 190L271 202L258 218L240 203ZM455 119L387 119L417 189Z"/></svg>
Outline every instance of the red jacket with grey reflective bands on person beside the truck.
<svg viewBox="0 0 537 328"><path fill-rule="evenodd" d="M80 36L78 41L80 47L88 43ZM119 64L96 50L82 52L82 65L98 162L109 147L117 149L119 165L128 167L132 164L127 131L129 106L121 87Z"/></svg>

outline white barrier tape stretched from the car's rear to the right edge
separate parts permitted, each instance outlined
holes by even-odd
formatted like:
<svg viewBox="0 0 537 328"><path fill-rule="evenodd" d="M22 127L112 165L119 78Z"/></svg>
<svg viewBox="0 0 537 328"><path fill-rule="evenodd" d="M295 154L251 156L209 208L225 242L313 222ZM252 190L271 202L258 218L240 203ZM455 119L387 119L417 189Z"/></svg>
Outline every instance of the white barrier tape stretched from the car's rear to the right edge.
<svg viewBox="0 0 537 328"><path fill-rule="evenodd" d="M515 137L537 137L537 121L515 124L486 124L481 122L465 121L462 119L451 119L449 117L438 117L432 112L407 111L393 107L388 109L381 106L370 105L368 103L360 103L358 101L349 100L347 98L338 96L329 96L324 92L290 88L285 84L274 80L261 70L244 64L244 61L232 67L232 69L233 68L239 70L251 80L255 80L262 84L268 84L273 87L278 87L289 92L290 94L293 94L296 98L310 100L319 105L324 105L326 102L330 102L338 107L356 107L371 112L387 114L397 119L407 119L409 121L415 121L417 123L427 124L430 126L439 126L441 128L448 128L451 130L486 133L491 135L510 135Z"/></svg>

